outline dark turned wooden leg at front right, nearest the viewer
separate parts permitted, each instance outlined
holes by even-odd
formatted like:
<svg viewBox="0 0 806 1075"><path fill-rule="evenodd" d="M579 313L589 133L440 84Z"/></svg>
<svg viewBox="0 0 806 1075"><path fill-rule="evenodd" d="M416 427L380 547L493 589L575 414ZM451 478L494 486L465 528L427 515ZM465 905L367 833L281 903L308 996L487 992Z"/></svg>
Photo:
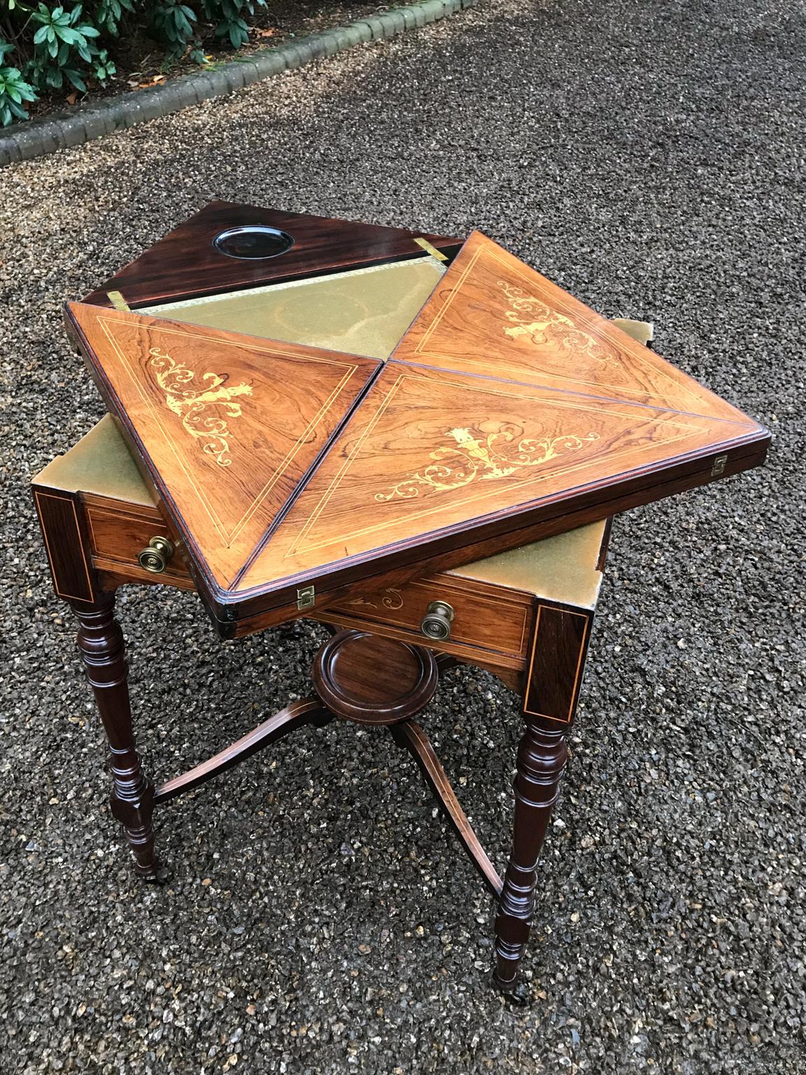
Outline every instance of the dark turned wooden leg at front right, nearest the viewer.
<svg viewBox="0 0 806 1075"><path fill-rule="evenodd" d="M495 983L512 993L534 915L537 859L567 758L566 729L524 716L515 778L513 850L495 917Z"/></svg>

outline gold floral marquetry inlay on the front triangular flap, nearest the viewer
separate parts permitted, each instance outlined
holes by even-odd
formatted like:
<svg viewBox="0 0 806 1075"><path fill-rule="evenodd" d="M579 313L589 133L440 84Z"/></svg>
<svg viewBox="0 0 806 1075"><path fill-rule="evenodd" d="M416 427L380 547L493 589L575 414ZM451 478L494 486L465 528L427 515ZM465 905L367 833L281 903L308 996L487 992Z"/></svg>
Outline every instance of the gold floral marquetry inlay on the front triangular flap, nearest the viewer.
<svg viewBox="0 0 806 1075"><path fill-rule="evenodd" d="M422 470L408 475L388 492L376 492L375 500L411 500L431 489L458 489L471 482L494 482L542 467L566 452L578 452L584 445L599 440L599 433L580 436L523 436L523 429L514 422L479 422L470 428L449 429L446 436L455 445L441 445L430 454Z"/></svg>

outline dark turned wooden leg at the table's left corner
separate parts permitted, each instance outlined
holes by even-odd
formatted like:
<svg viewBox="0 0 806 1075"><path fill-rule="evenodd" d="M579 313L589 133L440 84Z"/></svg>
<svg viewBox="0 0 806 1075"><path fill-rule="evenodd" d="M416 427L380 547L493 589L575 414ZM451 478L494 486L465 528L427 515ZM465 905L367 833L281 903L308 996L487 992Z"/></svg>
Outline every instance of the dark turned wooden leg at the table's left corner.
<svg viewBox="0 0 806 1075"><path fill-rule="evenodd" d="M123 825L142 877L157 877L152 812L154 786L143 774L134 747L127 685L124 634L115 619L114 594L95 604L73 602L78 617L78 649L110 743L113 789L110 805Z"/></svg>

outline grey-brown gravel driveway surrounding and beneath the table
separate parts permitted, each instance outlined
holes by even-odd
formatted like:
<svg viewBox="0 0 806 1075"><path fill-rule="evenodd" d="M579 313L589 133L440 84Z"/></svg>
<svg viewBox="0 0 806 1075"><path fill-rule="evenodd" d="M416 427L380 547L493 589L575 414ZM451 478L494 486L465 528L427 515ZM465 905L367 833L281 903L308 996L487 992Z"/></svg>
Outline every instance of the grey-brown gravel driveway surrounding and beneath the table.
<svg viewBox="0 0 806 1075"><path fill-rule="evenodd" d="M500 0L3 173L2 1072L804 1070L798 6ZM101 413L59 304L213 198L479 227L776 432L618 522L529 1007L383 734L303 732L169 807L162 890L106 815L25 485ZM313 627L220 646L191 596L120 605L159 777L307 691ZM502 863L518 722L471 671L428 721Z"/></svg>

